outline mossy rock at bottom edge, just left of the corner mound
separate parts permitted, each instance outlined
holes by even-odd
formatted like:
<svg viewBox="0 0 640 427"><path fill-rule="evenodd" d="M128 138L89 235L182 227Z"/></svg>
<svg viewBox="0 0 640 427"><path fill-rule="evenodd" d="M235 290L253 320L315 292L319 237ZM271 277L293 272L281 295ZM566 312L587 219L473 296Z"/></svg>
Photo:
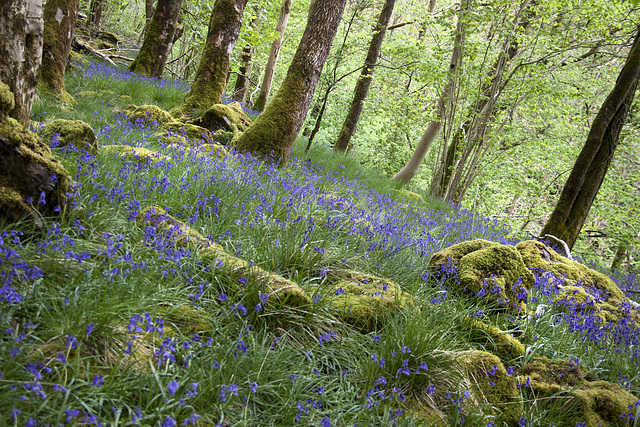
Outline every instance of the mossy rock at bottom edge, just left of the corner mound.
<svg viewBox="0 0 640 427"><path fill-rule="evenodd" d="M495 415L497 425L517 425L522 416L522 399L516 379L507 374L498 356L472 351L465 355L462 364L473 385L473 400Z"/></svg>

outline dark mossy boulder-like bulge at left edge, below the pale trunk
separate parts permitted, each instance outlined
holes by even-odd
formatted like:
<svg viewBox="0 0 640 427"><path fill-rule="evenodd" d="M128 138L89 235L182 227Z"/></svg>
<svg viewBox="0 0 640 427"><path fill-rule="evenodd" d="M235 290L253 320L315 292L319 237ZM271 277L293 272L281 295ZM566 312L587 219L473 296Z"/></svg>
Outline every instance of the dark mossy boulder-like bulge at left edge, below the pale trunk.
<svg viewBox="0 0 640 427"><path fill-rule="evenodd" d="M14 108L9 87L0 82L0 215L9 220L53 215L67 204L71 178L40 138L8 117Z"/></svg>

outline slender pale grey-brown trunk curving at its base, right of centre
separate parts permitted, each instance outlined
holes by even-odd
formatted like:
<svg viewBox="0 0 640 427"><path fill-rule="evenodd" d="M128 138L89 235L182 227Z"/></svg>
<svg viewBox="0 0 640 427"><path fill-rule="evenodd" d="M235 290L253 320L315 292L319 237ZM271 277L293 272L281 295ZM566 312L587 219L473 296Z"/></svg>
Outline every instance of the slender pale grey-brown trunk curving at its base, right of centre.
<svg viewBox="0 0 640 427"><path fill-rule="evenodd" d="M449 78L447 84L442 90L442 95L436 101L436 118L429 122L427 125L427 130L424 132L422 137L420 138L420 142L416 146L411 158L407 162L404 168L400 170L393 177L394 181L399 181L402 184L406 184L416 176L418 170L420 169L420 165L424 160L424 157L429 152L431 148L431 144L437 138L440 133L440 129L442 128L442 120L445 118L447 106L453 105L454 103L454 94L455 94L455 86L458 82L461 68L462 68L462 50L466 39L466 12L469 9L470 1L467 0L464 2L464 6L461 5L460 13L458 15L458 23L456 25L456 35L455 41L453 44L453 50L451 51L451 61L449 63ZM443 147L444 152L446 153L447 147Z"/></svg>

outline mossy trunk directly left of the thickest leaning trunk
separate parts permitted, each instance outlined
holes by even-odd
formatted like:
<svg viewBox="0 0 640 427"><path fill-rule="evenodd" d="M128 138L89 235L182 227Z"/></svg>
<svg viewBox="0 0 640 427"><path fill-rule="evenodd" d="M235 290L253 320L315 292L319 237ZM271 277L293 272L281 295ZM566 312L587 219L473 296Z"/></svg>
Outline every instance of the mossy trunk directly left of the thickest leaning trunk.
<svg viewBox="0 0 640 427"><path fill-rule="evenodd" d="M216 0L211 11L207 40L191 89L180 109L188 114L219 104L227 82L231 53L240 34L247 0Z"/></svg>

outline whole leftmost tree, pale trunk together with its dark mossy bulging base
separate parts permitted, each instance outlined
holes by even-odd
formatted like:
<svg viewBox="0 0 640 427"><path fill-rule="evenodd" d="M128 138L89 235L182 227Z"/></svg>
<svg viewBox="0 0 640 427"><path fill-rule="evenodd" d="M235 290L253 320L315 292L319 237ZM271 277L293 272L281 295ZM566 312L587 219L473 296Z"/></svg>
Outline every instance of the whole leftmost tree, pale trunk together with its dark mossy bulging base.
<svg viewBox="0 0 640 427"><path fill-rule="evenodd" d="M42 32L40 0L0 3L0 216L19 220L28 215L38 225L38 211L64 211L71 191L69 173L28 128Z"/></svg>

